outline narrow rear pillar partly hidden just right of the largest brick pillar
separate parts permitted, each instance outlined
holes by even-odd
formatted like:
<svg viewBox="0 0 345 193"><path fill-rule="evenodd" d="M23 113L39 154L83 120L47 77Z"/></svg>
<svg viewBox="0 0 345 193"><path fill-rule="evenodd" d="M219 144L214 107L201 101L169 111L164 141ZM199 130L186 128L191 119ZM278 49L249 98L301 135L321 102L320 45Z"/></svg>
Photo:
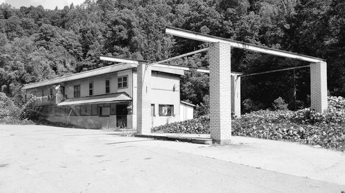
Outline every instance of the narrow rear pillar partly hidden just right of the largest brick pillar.
<svg viewBox="0 0 345 193"><path fill-rule="evenodd" d="M241 76L231 76L231 111L241 117Z"/></svg>

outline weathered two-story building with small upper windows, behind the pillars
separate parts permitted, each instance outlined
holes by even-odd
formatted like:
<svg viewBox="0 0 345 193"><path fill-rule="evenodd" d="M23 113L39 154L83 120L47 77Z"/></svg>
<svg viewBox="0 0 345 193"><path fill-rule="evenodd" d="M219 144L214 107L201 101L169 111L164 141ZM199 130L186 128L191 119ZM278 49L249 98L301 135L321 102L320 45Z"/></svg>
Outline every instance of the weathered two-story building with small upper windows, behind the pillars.
<svg viewBox="0 0 345 193"><path fill-rule="evenodd" d="M180 101L181 69L152 67L152 126L193 118L193 104ZM135 128L137 65L120 64L26 84L41 119L83 128ZM189 109L184 111L184 109ZM192 111L190 111L192 109ZM192 115L180 115L188 112Z"/></svg>

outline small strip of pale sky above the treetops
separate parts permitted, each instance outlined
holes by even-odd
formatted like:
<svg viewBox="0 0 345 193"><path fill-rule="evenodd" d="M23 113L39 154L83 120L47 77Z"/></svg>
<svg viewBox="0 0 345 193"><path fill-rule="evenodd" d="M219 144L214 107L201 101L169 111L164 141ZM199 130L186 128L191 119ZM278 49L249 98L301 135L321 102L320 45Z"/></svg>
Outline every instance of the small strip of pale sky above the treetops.
<svg viewBox="0 0 345 193"><path fill-rule="evenodd" d="M62 9L65 5L70 5L73 3L74 5L80 5L83 3L84 0L0 0L1 3L8 3L12 5L14 8L20 8L21 6L38 6L42 5L46 9L55 9L57 6L59 9Z"/></svg>

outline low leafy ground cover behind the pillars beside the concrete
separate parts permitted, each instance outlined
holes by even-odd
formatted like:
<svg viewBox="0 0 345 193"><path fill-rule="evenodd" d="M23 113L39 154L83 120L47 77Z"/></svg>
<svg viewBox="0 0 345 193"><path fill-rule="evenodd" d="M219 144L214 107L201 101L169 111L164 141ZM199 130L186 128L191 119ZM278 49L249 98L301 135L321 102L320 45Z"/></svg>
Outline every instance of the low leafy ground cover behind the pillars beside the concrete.
<svg viewBox="0 0 345 193"><path fill-rule="evenodd" d="M345 151L345 98L328 98L326 113L310 109L299 111L260 110L242 115L232 122L232 134L262 139L297 141ZM194 120L152 128L152 132L210 133L207 115Z"/></svg>

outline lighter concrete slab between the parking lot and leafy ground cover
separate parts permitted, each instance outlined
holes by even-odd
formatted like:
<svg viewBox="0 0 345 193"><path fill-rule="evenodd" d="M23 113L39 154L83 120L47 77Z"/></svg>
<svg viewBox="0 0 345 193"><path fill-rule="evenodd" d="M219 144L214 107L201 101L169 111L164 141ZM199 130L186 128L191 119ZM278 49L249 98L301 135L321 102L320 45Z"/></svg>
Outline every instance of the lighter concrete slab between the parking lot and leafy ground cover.
<svg viewBox="0 0 345 193"><path fill-rule="evenodd" d="M345 185L345 152L286 141L239 136L232 138L233 144L228 146L195 148L186 143L175 143L165 148Z"/></svg>

